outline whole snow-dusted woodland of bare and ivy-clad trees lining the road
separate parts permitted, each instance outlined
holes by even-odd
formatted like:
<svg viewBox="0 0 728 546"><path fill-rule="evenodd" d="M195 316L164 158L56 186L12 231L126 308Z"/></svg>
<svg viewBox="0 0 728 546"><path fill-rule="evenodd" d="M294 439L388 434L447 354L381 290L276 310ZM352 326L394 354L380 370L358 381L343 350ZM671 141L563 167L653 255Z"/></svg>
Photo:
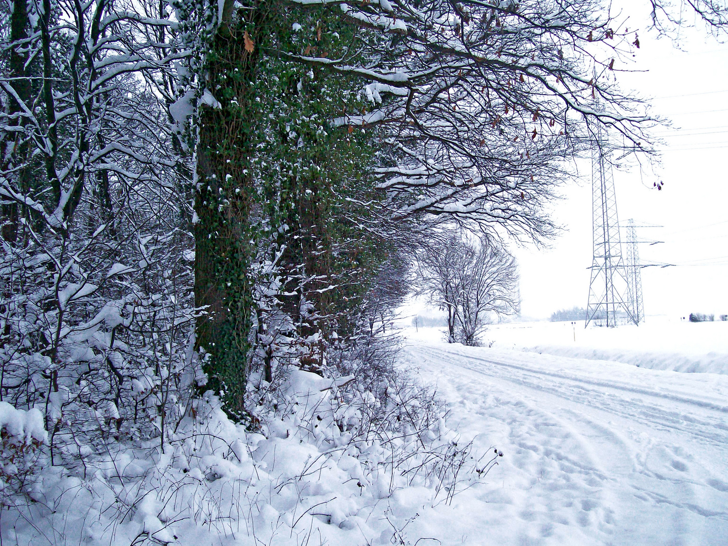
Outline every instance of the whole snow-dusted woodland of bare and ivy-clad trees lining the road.
<svg viewBox="0 0 728 546"><path fill-rule="evenodd" d="M690 5L724 27L724 3ZM652 9L657 31L684 24ZM335 435L432 427L395 366L397 306L466 233L461 255L510 273L490 307L443 308L517 310L508 245L558 234L549 205L596 135L650 156L660 122L619 85L642 30L599 0L7 0L0 21L0 510L18 513L40 510L33 466L86 479L123 446L167 453L203 406L274 435L292 370L360 412ZM423 460L452 470L443 449Z"/></svg>

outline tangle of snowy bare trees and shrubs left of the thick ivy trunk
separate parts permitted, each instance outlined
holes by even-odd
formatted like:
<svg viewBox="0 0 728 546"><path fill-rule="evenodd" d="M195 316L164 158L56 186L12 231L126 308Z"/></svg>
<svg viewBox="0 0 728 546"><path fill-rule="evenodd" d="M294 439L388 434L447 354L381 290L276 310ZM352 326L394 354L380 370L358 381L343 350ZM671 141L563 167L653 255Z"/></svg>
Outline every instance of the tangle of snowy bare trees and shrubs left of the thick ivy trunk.
<svg viewBox="0 0 728 546"><path fill-rule="evenodd" d="M146 17L16 4L1 13L21 62L0 61L0 397L41 411L50 464L84 475L110 443L160 438L194 383L178 34L152 36L170 13L146 1Z"/></svg>

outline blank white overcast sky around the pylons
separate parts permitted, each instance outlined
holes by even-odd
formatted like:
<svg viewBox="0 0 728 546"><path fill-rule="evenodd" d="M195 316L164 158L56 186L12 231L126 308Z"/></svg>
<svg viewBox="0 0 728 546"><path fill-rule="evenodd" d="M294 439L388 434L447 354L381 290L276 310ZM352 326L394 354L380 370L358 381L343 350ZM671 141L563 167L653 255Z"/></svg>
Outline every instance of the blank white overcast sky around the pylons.
<svg viewBox="0 0 728 546"><path fill-rule="evenodd" d="M648 317L728 313L728 44L700 31L683 36L680 51L652 31L639 32L633 68L646 72L617 76L623 88L654 98L652 114L673 122L672 129L657 130L665 140L661 165L642 173L614 170L620 224L634 218L663 226L638 229L641 239L664 241L639 245L641 261L676 264L642 269ZM582 182L565 186L566 199L555 204L555 221L566 231L552 248L512 249L521 265L524 317L549 317L557 309L587 304L592 218L590 166L585 167ZM665 183L662 191L652 189L659 180Z"/></svg>

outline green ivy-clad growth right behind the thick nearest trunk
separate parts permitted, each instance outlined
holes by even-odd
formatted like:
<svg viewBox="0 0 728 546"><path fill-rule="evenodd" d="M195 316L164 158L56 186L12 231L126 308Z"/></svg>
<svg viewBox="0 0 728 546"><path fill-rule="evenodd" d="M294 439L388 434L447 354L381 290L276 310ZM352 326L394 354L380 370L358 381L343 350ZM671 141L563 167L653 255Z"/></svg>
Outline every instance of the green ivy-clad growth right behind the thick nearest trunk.
<svg viewBox="0 0 728 546"><path fill-rule="evenodd" d="M368 272L386 259L381 238L364 227L371 225L381 198L369 175L376 163L376 128L363 131L335 122L367 106L357 76L342 77L289 58L351 55L365 38L357 25L342 17L336 4L289 8L285 16L288 21L278 19L272 40L277 51L264 60L272 91L270 115L264 116L270 120L268 171L274 173L266 182L269 223L282 280L277 309L295 330L289 332L296 339L290 354L296 357L289 354L285 361L325 373L327 347L354 335L373 277Z"/></svg>

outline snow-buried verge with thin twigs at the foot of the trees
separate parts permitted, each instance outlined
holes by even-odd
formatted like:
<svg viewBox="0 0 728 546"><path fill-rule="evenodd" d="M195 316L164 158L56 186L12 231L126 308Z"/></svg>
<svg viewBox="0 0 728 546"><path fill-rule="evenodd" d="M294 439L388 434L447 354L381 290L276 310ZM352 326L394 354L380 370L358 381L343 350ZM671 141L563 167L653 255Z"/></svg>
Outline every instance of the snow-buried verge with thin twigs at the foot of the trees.
<svg viewBox="0 0 728 546"><path fill-rule="evenodd" d="M243 545L298 546L312 533L390 544L418 506L449 502L498 456L459 444L432 389L401 376L370 391L287 366L250 392L261 395L259 432L208 392L163 444L109 443L84 459L86 478L63 467L34 476L3 532L33 544L194 544L210 532Z"/></svg>

